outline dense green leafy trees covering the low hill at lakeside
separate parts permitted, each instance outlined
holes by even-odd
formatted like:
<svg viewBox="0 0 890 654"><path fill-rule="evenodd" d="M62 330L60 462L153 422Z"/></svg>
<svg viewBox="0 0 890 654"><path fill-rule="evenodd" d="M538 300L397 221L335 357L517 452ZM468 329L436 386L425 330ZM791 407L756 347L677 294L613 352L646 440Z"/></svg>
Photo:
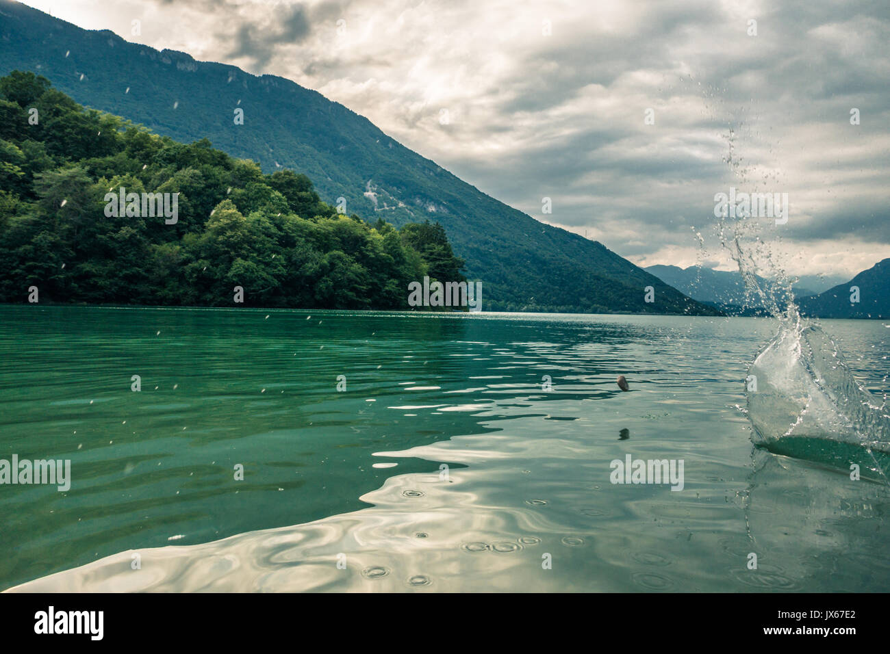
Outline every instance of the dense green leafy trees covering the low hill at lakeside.
<svg viewBox="0 0 890 654"><path fill-rule="evenodd" d="M142 209L109 211L122 188ZM146 214L144 194L174 198L175 218ZM464 281L463 266L438 223L371 225L304 174L84 109L34 73L0 78L0 302L37 287L40 302L224 306L241 287L252 306L407 309L409 282Z"/></svg>

